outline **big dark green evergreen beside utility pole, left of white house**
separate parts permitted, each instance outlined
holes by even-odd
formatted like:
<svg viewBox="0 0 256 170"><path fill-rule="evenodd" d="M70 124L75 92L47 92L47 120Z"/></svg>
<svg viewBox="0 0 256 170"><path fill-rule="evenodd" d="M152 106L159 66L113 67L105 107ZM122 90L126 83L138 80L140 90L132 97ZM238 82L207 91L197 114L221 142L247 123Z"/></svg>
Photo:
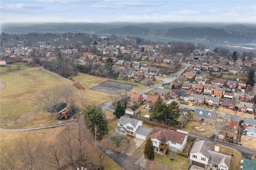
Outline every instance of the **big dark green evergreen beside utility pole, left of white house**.
<svg viewBox="0 0 256 170"><path fill-rule="evenodd" d="M97 127L97 133L100 134L98 138L102 139L102 136L108 134L108 121L102 108L95 105L86 105L83 112L86 125L92 133L94 133L95 127Z"/></svg>

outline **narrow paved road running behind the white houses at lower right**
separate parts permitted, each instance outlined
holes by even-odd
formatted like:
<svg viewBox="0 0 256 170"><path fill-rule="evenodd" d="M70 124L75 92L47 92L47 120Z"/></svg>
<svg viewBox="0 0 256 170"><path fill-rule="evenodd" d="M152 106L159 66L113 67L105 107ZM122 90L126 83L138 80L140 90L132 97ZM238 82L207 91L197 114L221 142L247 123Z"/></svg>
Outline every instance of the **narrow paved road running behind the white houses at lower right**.
<svg viewBox="0 0 256 170"><path fill-rule="evenodd" d="M199 136L199 135L196 135L196 134L189 134L190 136L193 136L193 137L196 137L198 139L202 139L202 140L206 140L206 141L210 141L210 142L214 142L213 139L210 139L210 138L206 138L206 137L203 137L203 136ZM220 142L220 141L216 141L216 143L218 144L222 144L224 146L228 146L228 147L231 147L231 148L234 148L236 150L239 150L240 152L244 152L244 153L248 153L248 154L256 154L256 151L255 150L251 150L251 149L247 149L247 148L244 148L242 146L239 146L239 145L236 145L236 144L229 144L229 143L225 143L225 142Z"/></svg>

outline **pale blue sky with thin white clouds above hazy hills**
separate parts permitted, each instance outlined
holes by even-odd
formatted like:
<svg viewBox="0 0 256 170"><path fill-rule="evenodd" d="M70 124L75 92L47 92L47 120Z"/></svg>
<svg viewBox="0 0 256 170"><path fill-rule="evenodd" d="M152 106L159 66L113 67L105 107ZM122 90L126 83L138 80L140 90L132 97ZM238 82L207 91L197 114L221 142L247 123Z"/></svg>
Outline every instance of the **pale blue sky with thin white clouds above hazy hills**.
<svg viewBox="0 0 256 170"><path fill-rule="evenodd" d="M7 22L256 23L255 0L1 0Z"/></svg>

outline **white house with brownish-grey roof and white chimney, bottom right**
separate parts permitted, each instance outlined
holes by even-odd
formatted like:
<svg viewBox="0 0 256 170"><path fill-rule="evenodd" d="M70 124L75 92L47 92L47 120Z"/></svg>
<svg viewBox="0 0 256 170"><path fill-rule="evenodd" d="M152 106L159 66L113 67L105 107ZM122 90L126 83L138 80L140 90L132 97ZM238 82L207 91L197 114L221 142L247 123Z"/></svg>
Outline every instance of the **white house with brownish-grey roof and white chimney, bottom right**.
<svg viewBox="0 0 256 170"><path fill-rule="evenodd" d="M218 166L218 170L229 170L231 155L219 152L219 148L215 145L213 150L212 145L205 140L194 142L190 150L190 164L204 169L210 165L211 168Z"/></svg>

